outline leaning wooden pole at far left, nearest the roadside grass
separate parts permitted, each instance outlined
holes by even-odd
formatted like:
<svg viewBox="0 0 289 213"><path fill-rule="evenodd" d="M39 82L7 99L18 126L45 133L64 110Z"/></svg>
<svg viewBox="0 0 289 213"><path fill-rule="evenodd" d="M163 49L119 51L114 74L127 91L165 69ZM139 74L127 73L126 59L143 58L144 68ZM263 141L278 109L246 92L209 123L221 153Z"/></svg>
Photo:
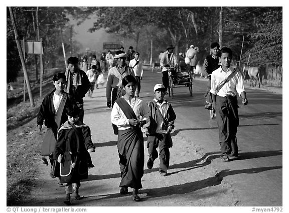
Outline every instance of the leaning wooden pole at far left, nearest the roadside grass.
<svg viewBox="0 0 289 213"><path fill-rule="evenodd" d="M9 12L10 12L10 16L11 16L11 21L12 21L14 33L15 33L15 41L16 41L17 49L18 49L18 52L19 52L19 56L20 56L20 60L21 60L21 64L22 64L22 68L23 68L23 72L24 72L24 78L25 78L26 84L27 84L27 91L28 91L28 95L29 95L30 105L32 107L34 107L33 95L32 95L32 92L31 92L29 77L28 77L28 74L27 74L27 69L26 69L26 65L25 65L25 60L23 58L21 45L20 45L20 42L18 40L18 32L17 32L17 29L16 29L16 24L15 24L15 20L14 20L14 14L13 14L12 7L9 7Z"/></svg>

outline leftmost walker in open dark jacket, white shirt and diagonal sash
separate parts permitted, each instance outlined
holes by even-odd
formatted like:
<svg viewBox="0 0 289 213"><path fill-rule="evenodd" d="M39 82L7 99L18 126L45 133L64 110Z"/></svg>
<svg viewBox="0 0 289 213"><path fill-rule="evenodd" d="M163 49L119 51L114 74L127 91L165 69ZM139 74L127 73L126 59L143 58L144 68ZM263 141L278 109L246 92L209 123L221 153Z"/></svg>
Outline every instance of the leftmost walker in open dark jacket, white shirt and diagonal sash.
<svg viewBox="0 0 289 213"><path fill-rule="evenodd" d="M57 73L53 76L53 85L53 91L44 97L37 115L37 127L39 131L42 132L43 123L47 126L41 148L42 159L46 165L48 165L48 161L45 156L49 156L50 163L53 165L53 152L57 131L67 120L65 107L75 103L74 98L64 91L66 85L64 73Z"/></svg>

